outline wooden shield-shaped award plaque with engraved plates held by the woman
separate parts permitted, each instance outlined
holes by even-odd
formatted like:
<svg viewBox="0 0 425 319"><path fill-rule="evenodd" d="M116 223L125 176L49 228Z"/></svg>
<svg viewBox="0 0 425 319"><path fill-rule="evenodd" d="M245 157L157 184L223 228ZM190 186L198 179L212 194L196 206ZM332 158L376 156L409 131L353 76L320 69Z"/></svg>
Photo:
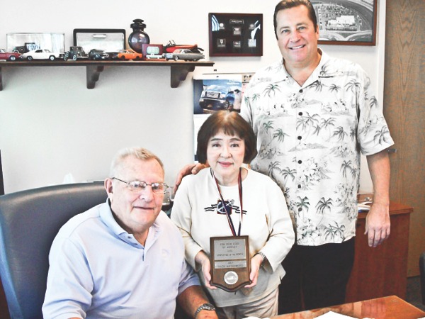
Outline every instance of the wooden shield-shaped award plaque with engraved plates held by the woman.
<svg viewBox="0 0 425 319"><path fill-rule="evenodd" d="M237 291L249 280L249 237L210 237L211 285Z"/></svg>

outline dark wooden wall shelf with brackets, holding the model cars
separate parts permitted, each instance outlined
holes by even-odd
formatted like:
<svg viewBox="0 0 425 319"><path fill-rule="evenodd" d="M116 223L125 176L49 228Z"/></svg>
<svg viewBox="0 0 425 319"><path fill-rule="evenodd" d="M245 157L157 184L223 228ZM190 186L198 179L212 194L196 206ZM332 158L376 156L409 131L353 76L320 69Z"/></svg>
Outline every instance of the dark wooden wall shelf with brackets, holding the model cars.
<svg viewBox="0 0 425 319"><path fill-rule="evenodd" d="M212 67L214 62L211 61L166 61L166 60L149 60L149 61L93 61L93 60L77 60L77 61L0 61L0 91L3 90L3 67L86 67L87 89L94 89L104 67L171 67L171 87L176 88L180 82L184 81L188 72L193 72L195 67Z"/></svg>

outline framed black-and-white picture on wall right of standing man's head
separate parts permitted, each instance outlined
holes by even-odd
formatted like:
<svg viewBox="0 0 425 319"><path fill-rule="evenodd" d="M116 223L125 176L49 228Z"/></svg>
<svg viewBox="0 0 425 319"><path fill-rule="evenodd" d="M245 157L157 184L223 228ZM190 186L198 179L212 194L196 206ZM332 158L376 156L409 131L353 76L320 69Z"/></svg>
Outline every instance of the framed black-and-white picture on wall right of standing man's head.
<svg viewBox="0 0 425 319"><path fill-rule="evenodd" d="M312 0L319 44L375 45L378 0Z"/></svg>

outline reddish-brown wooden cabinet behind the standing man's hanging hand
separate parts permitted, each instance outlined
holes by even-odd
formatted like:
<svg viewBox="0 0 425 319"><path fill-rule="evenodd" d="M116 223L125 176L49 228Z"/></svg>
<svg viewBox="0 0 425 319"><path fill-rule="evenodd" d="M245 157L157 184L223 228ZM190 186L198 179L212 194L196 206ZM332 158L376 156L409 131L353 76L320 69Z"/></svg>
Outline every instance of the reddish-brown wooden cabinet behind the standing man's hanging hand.
<svg viewBox="0 0 425 319"><path fill-rule="evenodd" d="M358 214L356 253L346 302L390 295L406 297L409 218L412 212L410 206L390 203L390 237L375 248L368 246L368 238L364 235L366 213Z"/></svg>

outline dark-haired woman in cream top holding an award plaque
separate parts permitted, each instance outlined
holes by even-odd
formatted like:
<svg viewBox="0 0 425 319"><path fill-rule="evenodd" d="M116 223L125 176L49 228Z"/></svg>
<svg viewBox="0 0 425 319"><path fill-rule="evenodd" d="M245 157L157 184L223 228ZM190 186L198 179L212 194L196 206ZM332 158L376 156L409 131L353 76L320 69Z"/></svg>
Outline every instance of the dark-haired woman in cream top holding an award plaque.
<svg viewBox="0 0 425 319"><path fill-rule="evenodd" d="M294 242L279 186L242 167L256 156L256 137L237 112L217 111L198 132L198 161L208 167L183 178L171 220L181 230L186 260L198 272L220 318L277 315L280 262ZM210 237L249 237L251 284L225 291L211 284Z"/></svg>

